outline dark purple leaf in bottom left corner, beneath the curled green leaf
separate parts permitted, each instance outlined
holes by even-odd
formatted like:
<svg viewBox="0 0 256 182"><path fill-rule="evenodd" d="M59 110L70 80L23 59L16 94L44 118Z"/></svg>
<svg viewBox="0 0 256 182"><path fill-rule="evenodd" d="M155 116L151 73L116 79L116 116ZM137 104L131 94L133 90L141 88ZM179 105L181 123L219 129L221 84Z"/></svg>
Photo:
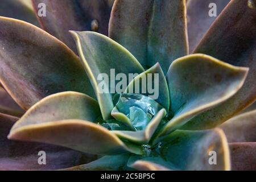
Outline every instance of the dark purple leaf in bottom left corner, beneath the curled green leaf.
<svg viewBox="0 0 256 182"><path fill-rule="evenodd" d="M0 114L0 170L54 170L89 163L95 155L82 154L49 144L16 142L7 135L18 118ZM39 151L46 152L46 165L39 165Z"/></svg>

